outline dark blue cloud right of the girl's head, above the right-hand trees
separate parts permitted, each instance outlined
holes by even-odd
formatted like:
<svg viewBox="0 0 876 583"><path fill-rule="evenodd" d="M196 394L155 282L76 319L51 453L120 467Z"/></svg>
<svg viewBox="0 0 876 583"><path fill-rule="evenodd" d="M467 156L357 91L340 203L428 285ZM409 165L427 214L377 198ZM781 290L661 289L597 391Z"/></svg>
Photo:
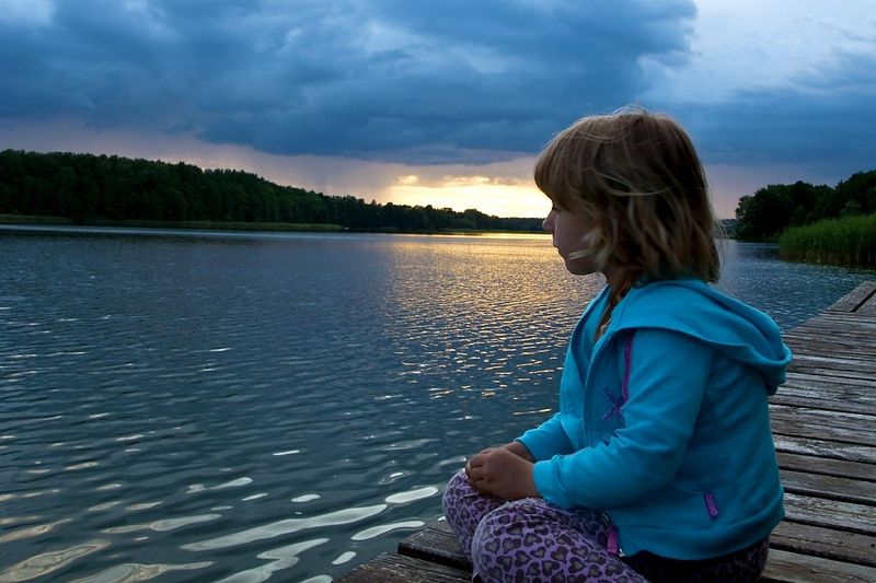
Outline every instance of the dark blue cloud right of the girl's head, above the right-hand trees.
<svg viewBox="0 0 876 583"><path fill-rule="evenodd" d="M874 71L876 55L842 53L792 86L679 109L699 137L706 162L803 163L828 174L872 170Z"/></svg>

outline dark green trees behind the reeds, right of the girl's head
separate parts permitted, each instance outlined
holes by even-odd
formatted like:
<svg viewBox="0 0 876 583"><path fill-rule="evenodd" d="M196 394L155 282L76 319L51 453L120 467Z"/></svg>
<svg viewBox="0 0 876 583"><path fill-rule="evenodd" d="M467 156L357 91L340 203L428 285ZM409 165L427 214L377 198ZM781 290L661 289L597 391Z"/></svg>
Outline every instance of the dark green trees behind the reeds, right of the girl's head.
<svg viewBox="0 0 876 583"><path fill-rule="evenodd" d="M739 199L736 236L772 240L789 226L872 213L876 213L876 171L855 173L835 187L802 180L772 184Z"/></svg>

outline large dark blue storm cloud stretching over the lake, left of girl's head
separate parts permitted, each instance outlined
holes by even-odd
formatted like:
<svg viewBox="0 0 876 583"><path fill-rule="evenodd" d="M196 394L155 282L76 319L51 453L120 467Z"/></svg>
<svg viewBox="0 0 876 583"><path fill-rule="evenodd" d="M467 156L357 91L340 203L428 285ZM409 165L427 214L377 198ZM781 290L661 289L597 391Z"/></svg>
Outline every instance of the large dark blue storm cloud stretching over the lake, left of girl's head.
<svg viewBox="0 0 876 583"><path fill-rule="evenodd" d="M55 2L0 22L0 117L195 131L283 154L483 162L682 62L672 0Z"/></svg>

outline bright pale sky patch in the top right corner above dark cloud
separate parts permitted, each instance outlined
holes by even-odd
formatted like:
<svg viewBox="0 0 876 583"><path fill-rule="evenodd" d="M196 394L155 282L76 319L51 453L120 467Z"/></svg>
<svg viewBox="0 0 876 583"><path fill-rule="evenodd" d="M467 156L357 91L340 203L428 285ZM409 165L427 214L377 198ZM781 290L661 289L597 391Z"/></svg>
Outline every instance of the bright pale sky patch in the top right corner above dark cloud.
<svg viewBox="0 0 876 583"><path fill-rule="evenodd" d="M700 0L696 10L690 61L666 68L647 97L718 103L758 90L817 91L812 81L844 56L876 57L872 2Z"/></svg>

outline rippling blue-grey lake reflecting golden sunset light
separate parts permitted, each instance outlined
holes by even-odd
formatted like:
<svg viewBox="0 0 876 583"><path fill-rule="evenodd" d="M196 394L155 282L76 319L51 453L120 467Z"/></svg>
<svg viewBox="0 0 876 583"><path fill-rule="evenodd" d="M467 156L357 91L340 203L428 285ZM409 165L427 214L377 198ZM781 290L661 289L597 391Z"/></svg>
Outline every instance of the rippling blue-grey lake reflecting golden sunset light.
<svg viewBox="0 0 876 583"><path fill-rule="evenodd" d="M784 328L876 272L722 242ZM546 235L0 228L0 582L327 582L551 415Z"/></svg>

